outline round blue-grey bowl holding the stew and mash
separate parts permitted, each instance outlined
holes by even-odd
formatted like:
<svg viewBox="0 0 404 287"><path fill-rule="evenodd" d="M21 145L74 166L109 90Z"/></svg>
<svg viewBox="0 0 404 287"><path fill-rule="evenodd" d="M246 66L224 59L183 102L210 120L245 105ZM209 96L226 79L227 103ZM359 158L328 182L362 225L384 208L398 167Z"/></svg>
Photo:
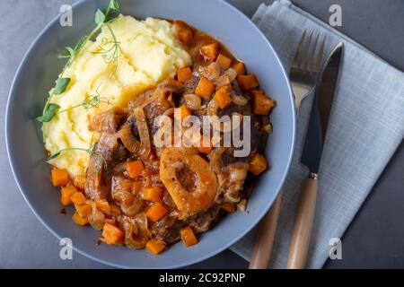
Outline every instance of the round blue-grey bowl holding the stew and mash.
<svg viewBox="0 0 404 287"><path fill-rule="evenodd" d="M81 1L74 5L73 27L63 28L56 18L42 30L22 60L7 104L6 143L13 175L40 222L58 239L70 238L75 250L106 265L123 268L175 268L195 264L230 247L267 213L285 180L294 148L294 100L287 74L268 39L246 16L220 0L120 0L120 11L136 18L148 16L181 19L220 39L250 71L262 88L277 100L271 119L267 155L271 169L259 178L248 204L248 213L226 216L201 235L192 248L176 244L157 257L145 250L96 246L100 231L82 228L70 216L59 213L59 193L50 184L50 172L41 140L40 115L64 63L57 53L75 43L94 26L94 12L108 0ZM72 211L68 210L71 214Z"/></svg>

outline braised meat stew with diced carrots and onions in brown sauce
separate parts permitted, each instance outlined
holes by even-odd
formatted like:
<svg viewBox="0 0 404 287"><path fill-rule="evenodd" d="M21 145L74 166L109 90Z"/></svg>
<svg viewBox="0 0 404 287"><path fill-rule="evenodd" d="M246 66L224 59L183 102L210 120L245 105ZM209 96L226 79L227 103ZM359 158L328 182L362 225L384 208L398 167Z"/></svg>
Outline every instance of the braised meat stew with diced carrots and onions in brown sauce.
<svg viewBox="0 0 404 287"><path fill-rule="evenodd" d="M174 79L134 95L125 109L93 117L89 129L97 141L88 151L85 178L73 181L85 193L80 204L75 202L75 222L103 230L101 240L108 244L154 254L180 239L187 247L197 244L197 235L211 229L223 213L233 213L237 206L245 210L249 174L268 169L258 151L272 129L268 116L275 105L259 90L256 76L246 74L245 65L215 39L185 22L173 26L193 64L180 67ZM200 120L197 128L189 126L191 115ZM164 146L154 142L161 116L171 124L171 140ZM224 116L240 121L223 123ZM248 117L249 141L244 140ZM196 128L192 135L191 127ZM238 135L233 132L249 145L242 157L235 155L244 146L234 143ZM231 135L227 145L226 135ZM180 144L173 145L178 138Z"/></svg>

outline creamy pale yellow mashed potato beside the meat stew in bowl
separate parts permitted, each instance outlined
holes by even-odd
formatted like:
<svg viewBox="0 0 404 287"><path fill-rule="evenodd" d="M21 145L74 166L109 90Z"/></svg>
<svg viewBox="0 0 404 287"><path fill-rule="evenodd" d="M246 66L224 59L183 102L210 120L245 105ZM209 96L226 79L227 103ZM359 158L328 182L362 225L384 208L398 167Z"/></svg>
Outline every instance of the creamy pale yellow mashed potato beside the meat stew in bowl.
<svg viewBox="0 0 404 287"><path fill-rule="evenodd" d="M112 40L110 30L104 27L96 41L89 41L66 70L64 77L71 78L71 83L52 102L61 107L59 110L67 110L43 127L48 152L70 147L90 148L94 141L93 133L88 130L90 118L113 106L125 106L136 94L166 77L173 77L179 67L191 64L170 22L153 18L136 21L130 16L119 16L110 27L120 43L121 55L115 65L107 63L100 54L101 48L109 48L105 39ZM130 86L130 93L122 92L125 86ZM98 107L80 106L93 96L100 96L103 101ZM88 161L86 152L67 151L49 163L75 177L84 175Z"/></svg>

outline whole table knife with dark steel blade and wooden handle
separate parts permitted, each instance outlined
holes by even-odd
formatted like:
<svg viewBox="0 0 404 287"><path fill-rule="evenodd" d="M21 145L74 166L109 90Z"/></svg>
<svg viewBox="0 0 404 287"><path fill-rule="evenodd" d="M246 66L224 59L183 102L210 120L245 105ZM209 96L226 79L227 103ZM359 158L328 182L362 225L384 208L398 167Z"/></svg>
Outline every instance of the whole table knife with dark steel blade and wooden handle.
<svg viewBox="0 0 404 287"><path fill-rule="evenodd" d="M338 82L343 47L344 44L340 42L329 54L314 95L312 113L301 158L301 163L308 168L309 175L303 184L294 219L294 233L287 260L287 268L289 269L304 268L307 261L319 186L318 173L322 147L329 126L329 115Z"/></svg>

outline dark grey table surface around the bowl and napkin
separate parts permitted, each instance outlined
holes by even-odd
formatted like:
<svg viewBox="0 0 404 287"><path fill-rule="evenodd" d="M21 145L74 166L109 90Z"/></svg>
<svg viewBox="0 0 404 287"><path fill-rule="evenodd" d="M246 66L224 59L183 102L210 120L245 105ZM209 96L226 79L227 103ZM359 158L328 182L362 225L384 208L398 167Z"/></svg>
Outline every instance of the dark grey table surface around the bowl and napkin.
<svg viewBox="0 0 404 287"><path fill-rule="evenodd" d="M75 0L14 0L2 2L0 11L0 105L5 103L13 75L31 42L57 15L61 4ZM248 16L262 2L228 0ZM329 6L340 4L343 26L339 30L404 71L404 0L294 0L294 4L323 21ZM7 39L7 40L5 40ZM25 204L16 186L5 152L4 125L0 126L0 268L108 268L77 253L73 260L59 258L59 242ZM343 242L343 259L325 268L404 267L404 147L391 159L367 198ZM191 268L245 268L248 263L226 250Z"/></svg>

